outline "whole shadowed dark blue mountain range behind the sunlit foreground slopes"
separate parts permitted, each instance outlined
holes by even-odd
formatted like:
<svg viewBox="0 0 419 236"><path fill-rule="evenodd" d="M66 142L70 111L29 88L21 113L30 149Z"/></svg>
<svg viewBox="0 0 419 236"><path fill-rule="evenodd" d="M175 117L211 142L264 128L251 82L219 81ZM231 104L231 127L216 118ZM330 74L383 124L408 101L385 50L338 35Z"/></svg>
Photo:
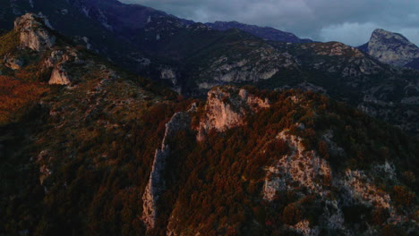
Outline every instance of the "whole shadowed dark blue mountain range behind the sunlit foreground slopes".
<svg viewBox="0 0 419 236"><path fill-rule="evenodd" d="M390 68L354 47L266 41L114 0L0 3L1 22L25 11L42 12L54 29L78 44L188 97L204 97L225 84L314 89L419 133L418 72Z"/></svg>

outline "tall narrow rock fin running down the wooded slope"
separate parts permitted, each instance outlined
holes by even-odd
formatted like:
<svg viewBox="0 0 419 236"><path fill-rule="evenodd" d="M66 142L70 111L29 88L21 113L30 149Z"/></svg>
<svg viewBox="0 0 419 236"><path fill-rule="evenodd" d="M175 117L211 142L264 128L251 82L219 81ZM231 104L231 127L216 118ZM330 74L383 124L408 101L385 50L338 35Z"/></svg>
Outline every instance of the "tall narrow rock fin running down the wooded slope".
<svg viewBox="0 0 419 236"><path fill-rule="evenodd" d="M194 106L188 112L192 112L193 109ZM158 198L167 188L166 181L162 178L163 173L167 169L167 159L170 158L170 147L167 145L167 139L174 137L178 131L190 129L191 116L188 112L176 113L167 122L161 148L156 150L149 183L142 195L142 221L146 224L147 229L152 229L156 226L158 219Z"/></svg>

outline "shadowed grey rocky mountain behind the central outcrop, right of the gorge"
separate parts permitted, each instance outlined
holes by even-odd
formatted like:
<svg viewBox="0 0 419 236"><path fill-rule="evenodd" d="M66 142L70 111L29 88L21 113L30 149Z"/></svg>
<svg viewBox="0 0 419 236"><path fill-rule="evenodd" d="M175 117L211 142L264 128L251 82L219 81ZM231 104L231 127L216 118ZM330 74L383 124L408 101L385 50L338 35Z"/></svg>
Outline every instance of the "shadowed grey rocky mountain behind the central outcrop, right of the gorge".
<svg viewBox="0 0 419 236"><path fill-rule="evenodd" d="M232 34L234 32L231 32ZM235 37L241 33L237 31ZM417 78L338 42L286 44L259 38L220 41L185 61L194 94L213 86L321 91L416 134Z"/></svg>

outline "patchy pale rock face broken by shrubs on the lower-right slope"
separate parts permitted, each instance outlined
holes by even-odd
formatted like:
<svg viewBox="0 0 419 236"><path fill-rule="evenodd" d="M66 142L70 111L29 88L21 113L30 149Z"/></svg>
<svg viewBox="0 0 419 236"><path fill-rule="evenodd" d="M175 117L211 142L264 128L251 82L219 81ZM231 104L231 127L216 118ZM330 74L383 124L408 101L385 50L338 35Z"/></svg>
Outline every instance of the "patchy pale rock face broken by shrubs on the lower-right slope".
<svg viewBox="0 0 419 236"><path fill-rule="evenodd" d="M304 129L304 125L299 126ZM388 161L375 165L369 174L349 168L343 172L334 172L327 159L304 147L302 138L290 134L289 131L281 131L276 139L285 141L290 151L266 167L262 189L264 200L272 202L278 198L278 192L304 188L308 194L316 194L324 206L323 215L319 218L321 224L327 225L329 229L345 232L345 235L351 235L342 212L346 206L378 207L389 211L389 222L406 221L395 210L389 194L374 184L376 178L387 181L397 179L394 166ZM343 155L344 150L333 142L332 133L323 135L322 139L328 143L330 153L338 151L339 156ZM330 199L333 190L338 190L339 194ZM318 227L310 227L305 220L290 225L289 228L302 235L321 235Z"/></svg>

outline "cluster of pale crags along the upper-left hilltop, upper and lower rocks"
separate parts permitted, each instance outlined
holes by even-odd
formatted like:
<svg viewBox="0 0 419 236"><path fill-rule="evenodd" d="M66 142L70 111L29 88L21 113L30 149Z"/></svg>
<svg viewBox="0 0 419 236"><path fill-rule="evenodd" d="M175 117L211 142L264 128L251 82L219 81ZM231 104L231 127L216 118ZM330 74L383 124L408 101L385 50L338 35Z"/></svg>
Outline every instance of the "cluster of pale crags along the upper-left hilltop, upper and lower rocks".
<svg viewBox="0 0 419 236"><path fill-rule="evenodd" d="M14 22L14 32L19 38L21 51L4 55L4 66L13 71L24 70L30 66L28 55L42 54L43 61L37 67L41 73L49 74L48 84L68 85L77 76L70 68L83 65L78 51L56 37L47 19L42 14L26 13ZM26 53L24 53L26 52ZM25 55L26 54L26 55Z"/></svg>

